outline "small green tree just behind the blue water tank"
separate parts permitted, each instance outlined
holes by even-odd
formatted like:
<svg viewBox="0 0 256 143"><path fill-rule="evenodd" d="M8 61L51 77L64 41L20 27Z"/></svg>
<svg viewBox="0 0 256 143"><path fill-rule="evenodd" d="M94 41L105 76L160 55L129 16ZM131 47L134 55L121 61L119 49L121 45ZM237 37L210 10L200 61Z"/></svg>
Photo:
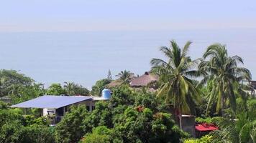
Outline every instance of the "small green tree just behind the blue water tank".
<svg viewBox="0 0 256 143"><path fill-rule="evenodd" d="M93 87L91 87L91 94L93 96L101 96L102 90L106 87L106 84L109 84L111 79L101 79L96 82Z"/></svg>

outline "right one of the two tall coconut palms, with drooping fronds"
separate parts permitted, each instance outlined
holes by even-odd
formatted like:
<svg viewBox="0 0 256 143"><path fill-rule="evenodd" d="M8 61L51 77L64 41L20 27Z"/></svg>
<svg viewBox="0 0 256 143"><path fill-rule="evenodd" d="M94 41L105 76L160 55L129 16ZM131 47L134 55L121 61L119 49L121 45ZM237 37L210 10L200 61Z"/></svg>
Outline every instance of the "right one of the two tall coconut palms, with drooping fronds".
<svg viewBox="0 0 256 143"><path fill-rule="evenodd" d="M209 80L213 81L213 89L209 94L209 103L206 114L212 103L216 102L216 112L224 115L223 109L225 104L230 104L233 111L236 110L236 97L234 94L234 84L242 79L251 79L250 71L238 64L243 64L243 60L239 56L228 56L225 45L212 44L204 53L204 60L199 64L198 69L206 75L202 83Z"/></svg>

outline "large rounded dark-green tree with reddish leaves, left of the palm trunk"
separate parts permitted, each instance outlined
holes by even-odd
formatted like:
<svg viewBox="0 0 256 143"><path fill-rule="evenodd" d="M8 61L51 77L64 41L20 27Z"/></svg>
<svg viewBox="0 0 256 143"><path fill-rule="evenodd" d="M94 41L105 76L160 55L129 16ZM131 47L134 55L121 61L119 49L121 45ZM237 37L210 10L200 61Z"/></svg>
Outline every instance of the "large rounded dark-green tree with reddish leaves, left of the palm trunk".
<svg viewBox="0 0 256 143"><path fill-rule="evenodd" d="M114 142L179 142L182 132L170 114L128 107L114 125Z"/></svg>

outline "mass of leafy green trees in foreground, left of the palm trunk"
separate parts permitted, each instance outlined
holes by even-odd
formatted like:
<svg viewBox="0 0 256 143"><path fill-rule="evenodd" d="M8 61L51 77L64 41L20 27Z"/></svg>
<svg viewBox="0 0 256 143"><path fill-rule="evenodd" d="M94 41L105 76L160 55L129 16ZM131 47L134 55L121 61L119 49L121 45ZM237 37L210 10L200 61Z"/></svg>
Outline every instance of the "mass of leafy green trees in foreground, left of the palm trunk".
<svg viewBox="0 0 256 143"><path fill-rule="evenodd" d="M172 115L165 112L168 107L161 102L154 94L119 87L109 102L98 102L93 112L83 105L72 107L55 129L48 127L47 117L36 118L35 113L22 116L22 110L9 109L2 103L0 139L1 142L78 142L82 138L82 142L179 142L188 134L175 125Z"/></svg>

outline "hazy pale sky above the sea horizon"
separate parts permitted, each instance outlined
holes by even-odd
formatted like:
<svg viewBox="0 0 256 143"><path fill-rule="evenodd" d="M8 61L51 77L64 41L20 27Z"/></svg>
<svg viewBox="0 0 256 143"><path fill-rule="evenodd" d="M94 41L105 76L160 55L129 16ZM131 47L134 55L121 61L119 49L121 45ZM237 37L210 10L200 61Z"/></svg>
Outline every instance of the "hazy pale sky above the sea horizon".
<svg viewBox="0 0 256 143"><path fill-rule="evenodd" d="M255 0L1 0L0 31L256 28Z"/></svg>

